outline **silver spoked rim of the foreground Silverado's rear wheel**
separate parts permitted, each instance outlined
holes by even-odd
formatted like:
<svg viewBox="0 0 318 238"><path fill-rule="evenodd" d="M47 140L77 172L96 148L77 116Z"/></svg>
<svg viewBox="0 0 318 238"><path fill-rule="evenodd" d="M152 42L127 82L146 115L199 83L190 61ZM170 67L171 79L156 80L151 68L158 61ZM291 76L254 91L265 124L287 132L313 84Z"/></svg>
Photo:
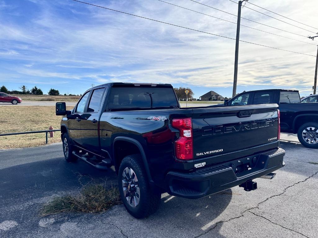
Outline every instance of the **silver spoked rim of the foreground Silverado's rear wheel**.
<svg viewBox="0 0 318 238"><path fill-rule="evenodd" d="M135 208L140 200L140 188L137 176L129 167L126 167L122 172L122 189L124 191L124 196L128 202L128 204Z"/></svg>

